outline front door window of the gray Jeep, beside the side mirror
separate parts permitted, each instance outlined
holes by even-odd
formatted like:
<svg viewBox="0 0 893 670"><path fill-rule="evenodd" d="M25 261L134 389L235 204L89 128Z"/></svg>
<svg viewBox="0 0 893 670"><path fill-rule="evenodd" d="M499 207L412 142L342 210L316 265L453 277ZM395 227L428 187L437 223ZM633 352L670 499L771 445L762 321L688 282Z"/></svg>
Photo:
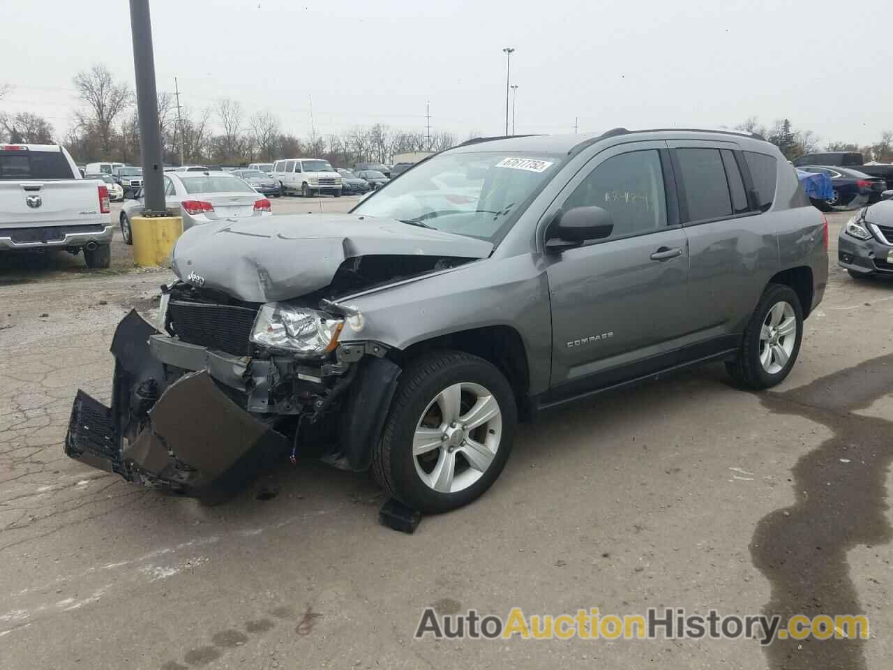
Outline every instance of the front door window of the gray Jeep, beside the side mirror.
<svg viewBox="0 0 893 670"><path fill-rule="evenodd" d="M563 209L591 206L611 213L612 239L665 227L666 194L657 151L633 151L608 158L580 183Z"/></svg>

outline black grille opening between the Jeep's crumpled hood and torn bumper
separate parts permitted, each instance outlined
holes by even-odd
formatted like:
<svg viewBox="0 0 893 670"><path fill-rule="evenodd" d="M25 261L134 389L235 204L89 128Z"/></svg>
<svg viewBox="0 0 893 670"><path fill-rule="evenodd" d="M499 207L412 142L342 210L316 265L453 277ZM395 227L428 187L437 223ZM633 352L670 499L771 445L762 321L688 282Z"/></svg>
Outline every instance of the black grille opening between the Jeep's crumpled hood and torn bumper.
<svg viewBox="0 0 893 670"><path fill-rule="evenodd" d="M168 318L179 339L234 356L247 356L248 337L257 311L230 305L204 305L171 300Z"/></svg>

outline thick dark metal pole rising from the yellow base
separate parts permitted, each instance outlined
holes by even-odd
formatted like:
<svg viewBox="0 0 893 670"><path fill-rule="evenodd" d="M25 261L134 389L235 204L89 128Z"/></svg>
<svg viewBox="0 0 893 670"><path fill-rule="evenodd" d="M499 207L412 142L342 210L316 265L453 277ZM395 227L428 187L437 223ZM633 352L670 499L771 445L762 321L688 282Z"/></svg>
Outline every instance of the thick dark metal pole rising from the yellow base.
<svg viewBox="0 0 893 670"><path fill-rule="evenodd" d="M143 157L145 214L167 215L164 206L164 163L158 129L158 94L152 51L149 0L130 0L130 33L133 37L133 69L137 79L139 148Z"/></svg>

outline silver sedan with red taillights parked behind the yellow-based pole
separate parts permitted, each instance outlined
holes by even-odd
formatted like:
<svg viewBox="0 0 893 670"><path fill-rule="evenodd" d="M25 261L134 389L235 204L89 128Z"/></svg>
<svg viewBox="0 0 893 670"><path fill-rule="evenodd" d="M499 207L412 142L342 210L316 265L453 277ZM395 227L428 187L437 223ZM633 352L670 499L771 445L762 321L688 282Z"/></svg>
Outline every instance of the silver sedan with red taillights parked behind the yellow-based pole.
<svg viewBox="0 0 893 670"><path fill-rule="evenodd" d="M164 202L183 218L183 230L221 219L242 220L272 215L270 200L230 172L165 172ZM145 206L143 189L121 207L121 235L133 244L130 220Z"/></svg>

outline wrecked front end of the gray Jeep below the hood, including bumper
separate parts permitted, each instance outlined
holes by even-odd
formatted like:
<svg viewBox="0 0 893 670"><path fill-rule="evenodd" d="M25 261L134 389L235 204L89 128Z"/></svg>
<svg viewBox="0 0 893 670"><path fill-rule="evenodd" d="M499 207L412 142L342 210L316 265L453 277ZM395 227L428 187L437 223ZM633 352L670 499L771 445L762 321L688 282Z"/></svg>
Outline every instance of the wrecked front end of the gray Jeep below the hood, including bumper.
<svg viewBox="0 0 893 670"><path fill-rule="evenodd" d="M369 438L399 374L385 348L367 356L363 344L339 346L333 337L324 356L308 359L258 346L263 337L288 345L287 326L294 334L302 324L264 314L271 306L202 302L200 294L182 282L166 289L167 333L135 311L124 317L111 348L111 406L78 391L65 453L196 497L238 490L289 449L368 467Z"/></svg>

